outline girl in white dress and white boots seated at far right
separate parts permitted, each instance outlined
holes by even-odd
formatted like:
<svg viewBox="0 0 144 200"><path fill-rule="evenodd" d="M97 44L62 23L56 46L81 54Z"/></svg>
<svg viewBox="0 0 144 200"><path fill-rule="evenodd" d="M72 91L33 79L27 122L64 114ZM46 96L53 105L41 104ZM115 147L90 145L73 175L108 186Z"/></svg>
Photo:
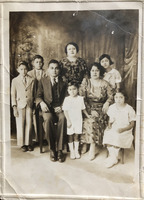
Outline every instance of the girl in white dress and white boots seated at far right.
<svg viewBox="0 0 144 200"><path fill-rule="evenodd" d="M104 132L103 144L107 145L109 157L106 167L118 163L120 148L130 148L133 141L132 129L136 115L134 109L125 103L125 93L119 90L114 96L115 103L108 109L109 124Z"/></svg>

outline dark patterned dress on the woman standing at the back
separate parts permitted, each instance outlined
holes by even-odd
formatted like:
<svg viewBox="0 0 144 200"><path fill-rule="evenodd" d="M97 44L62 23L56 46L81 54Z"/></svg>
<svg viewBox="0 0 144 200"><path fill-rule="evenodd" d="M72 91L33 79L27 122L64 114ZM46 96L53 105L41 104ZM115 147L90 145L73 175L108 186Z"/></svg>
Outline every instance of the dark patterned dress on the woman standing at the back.
<svg viewBox="0 0 144 200"><path fill-rule="evenodd" d="M81 83L84 76L88 73L86 62L80 57L75 62L69 61L68 58L63 58L60 61L60 66L62 69L61 75L67 82L75 80Z"/></svg>

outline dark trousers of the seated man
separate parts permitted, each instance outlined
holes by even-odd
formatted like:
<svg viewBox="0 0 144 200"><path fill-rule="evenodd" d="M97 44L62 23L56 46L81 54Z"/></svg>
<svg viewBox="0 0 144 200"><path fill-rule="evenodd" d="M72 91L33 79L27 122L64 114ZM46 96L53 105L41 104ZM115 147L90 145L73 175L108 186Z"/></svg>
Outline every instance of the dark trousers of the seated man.
<svg viewBox="0 0 144 200"><path fill-rule="evenodd" d="M64 113L42 113L44 119L44 130L49 142L50 149L53 151L63 150L64 137L66 137L66 118ZM55 119L57 118L57 127L55 130Z"/></svg>

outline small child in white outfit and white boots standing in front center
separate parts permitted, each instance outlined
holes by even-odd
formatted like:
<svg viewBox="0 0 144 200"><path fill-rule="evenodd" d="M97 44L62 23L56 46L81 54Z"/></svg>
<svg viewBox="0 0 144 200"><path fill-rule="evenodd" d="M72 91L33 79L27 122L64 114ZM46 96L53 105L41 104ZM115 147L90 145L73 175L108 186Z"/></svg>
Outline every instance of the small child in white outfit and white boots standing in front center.
<svg viewBox="0 0 144 200"><path fill-rule="evenodd" d="M85 110L83 97L78 95L78 84L72 81L68 84L69 96L65 98L63 110L67 119L68 145L70 149L70 158L80 158L79 154L79 135L82 134L82 112L86 117L90 117Z"/></svg>

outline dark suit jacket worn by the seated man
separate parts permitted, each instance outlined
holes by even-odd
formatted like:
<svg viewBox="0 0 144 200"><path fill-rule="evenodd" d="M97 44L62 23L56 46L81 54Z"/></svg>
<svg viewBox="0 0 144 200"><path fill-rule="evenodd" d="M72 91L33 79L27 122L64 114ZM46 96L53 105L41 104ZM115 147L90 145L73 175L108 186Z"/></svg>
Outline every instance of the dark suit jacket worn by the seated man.
<svg viewBox="0 0 144 200"><path fill-rule="evenodd" d="M67 84L60 77L58 78L58 93L60 105L62 105L64 98L67 94ZM43 77L38 84L38 90L36 95L36 105L44 101L49 109L52 108L51 103L53 101L52 96L52 84L49 76Z"/></svg>

